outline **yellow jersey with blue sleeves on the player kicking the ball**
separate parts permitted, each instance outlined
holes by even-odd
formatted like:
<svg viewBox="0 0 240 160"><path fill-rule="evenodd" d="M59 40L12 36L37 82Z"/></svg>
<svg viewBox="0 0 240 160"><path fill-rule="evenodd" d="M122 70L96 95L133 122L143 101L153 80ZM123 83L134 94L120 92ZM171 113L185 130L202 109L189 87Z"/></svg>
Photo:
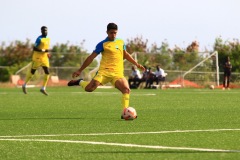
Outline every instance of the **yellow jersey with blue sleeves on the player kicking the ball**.
<svg viewBox="0 0 240 160"><path fill-rule="evenodd" d="M95 53L102 54L98 72L105 76L122 76L124 50L126 50L126 45L119 38L114 41L106 38L99 42L94 50Z"/></svg>

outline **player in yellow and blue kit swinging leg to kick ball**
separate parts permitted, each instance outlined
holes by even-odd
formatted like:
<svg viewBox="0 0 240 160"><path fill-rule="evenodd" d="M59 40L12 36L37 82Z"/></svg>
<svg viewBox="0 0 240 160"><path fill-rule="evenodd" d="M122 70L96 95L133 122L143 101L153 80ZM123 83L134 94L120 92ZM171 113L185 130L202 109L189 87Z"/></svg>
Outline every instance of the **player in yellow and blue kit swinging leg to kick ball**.
<svg viewBox="0 0 240 160"><path fill-rule="evenodd" d="M144 70L144 67L138 64L126 51L126 46L122 39L116 38L118 26L115 23L107 25L107 38L99 42L90 56L86 58L82 66L72 74L72 77L78 77L82 71L91 64L93 59L100 53L102 59L99 70L90 82L83 79L71 80L68 86L80 85L87 92L94 91L99 85L111 82L119 91L122 92L122 108L129 107L130 88L128 81L124 77L123 60L126 59L133 65ZM121 117L122 118L122 117Z"/></svg>

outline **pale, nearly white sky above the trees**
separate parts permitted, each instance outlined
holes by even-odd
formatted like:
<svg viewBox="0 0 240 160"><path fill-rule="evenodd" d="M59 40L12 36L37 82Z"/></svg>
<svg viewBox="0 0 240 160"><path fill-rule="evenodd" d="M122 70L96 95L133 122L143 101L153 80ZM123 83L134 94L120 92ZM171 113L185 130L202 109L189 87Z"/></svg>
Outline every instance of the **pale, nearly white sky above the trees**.
<svg viewBox="0 0 240 160"><path fill-rule="evenodd" d="M149 47L167 41L186 48L197 40L200 50L215 39L240 37L239 0L0 0L0 43L32 43L48 27L51 46L80 45L92 52L106 38L106 26L118 25L118 38L148 39Z"/></svg>

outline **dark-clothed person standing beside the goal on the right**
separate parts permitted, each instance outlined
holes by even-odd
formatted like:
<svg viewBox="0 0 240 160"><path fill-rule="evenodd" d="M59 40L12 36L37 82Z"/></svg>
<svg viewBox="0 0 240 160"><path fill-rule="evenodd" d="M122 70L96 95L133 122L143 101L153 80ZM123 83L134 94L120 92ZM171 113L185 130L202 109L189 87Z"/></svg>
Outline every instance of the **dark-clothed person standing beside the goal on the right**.
<svg viewBox="0 0 240 160"><path fill-rule="evenodd" d="M224 69L224 75L223 75L223 90L225 90L225 87L230 90L229 84L230 84L230 77L232 72L232 64L230 62L230 57L227 56L226 62L223 65ZM227 84L226 84L227 83Z"/></svg>

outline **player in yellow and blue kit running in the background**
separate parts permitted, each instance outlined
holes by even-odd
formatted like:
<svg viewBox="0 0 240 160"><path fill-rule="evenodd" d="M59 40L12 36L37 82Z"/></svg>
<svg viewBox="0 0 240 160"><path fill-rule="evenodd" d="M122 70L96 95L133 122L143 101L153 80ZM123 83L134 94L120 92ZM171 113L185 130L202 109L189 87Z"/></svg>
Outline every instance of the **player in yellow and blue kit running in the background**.
<svg viewBox="0 0 240 160"><path fill-rule="evenodd" d="M36 70L39 67L42 67L44 70L44 79L43 79L43 85L40 89L40 92L44 95L48 95L46 92L46 86L49 79L49 46L50 46L50 38L47 37L48 34L48 28L46 26L41 27L42 35L40 35L33 47L33 56L32 56L32 67L31 71L27 74L25 83L22 85L23 93L27 94L27 83L31 80L31 78L34 76Z"/></svg>

